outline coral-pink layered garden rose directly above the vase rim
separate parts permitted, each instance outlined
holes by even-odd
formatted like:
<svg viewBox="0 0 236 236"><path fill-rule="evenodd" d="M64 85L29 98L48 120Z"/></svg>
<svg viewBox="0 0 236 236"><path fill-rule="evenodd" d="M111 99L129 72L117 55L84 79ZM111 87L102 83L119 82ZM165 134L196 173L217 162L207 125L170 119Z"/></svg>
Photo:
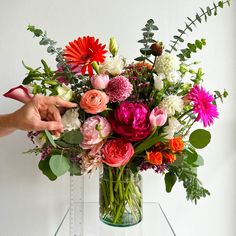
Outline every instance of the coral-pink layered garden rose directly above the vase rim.
<svg viewBox="0 0 236 236"><path fill-rule="evenodd" d="M131 143L124 139L111 139L102 149L103 162L112 167L126 165L134 155L134 148Z"/></svg>

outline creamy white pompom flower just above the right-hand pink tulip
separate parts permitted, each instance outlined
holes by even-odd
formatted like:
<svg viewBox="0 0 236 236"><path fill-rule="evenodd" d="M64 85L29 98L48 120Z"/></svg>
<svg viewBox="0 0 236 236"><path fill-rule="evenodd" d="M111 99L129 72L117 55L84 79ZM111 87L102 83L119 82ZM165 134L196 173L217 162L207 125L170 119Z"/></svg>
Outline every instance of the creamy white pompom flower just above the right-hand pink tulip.
<svg viewBox="0 0 236 236"><path fill-rule="evenodd" d="M167 111L168 117L173 116L175 112L181 112L183 110L184 101L177 95L169 95L164 98L159 107L164 108Z"/></svg>

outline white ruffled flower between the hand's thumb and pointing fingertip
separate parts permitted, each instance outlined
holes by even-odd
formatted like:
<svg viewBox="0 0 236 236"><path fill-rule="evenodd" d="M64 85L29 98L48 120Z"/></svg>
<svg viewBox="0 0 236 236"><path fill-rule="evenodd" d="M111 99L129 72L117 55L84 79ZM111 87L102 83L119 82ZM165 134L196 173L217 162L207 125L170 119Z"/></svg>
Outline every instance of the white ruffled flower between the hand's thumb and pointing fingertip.
<svg viewBox="0 0 236 236"><path fill-rule="evenodd" d="M79 129L81 122L79 120L78 108L69 109L62 116L62 124L65 130L71 131Z"/></svg>

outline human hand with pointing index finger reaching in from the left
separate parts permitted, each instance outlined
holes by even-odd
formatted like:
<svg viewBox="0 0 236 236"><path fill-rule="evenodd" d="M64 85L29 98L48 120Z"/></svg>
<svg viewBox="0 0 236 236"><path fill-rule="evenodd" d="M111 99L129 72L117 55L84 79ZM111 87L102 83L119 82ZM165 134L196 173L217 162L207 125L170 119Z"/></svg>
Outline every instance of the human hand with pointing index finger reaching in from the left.
<svg viewBox="0 0 236 236"><path fill-rule="evenodd" d="M72 108L76 103L64 101L56 96L35 95L28 103L11 114L10 122L21 130L50 130L59 136L63 131L59 107Z"/></svg>

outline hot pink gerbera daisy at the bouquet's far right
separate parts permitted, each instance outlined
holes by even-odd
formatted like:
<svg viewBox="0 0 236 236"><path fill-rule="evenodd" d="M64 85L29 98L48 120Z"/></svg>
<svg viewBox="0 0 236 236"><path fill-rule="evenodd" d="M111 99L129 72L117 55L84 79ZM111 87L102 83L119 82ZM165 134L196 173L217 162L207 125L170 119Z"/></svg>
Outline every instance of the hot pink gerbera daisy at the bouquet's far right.
<svg viewBox="0 0 236 236"><path fill-rule="evenodd" d="M197 114L196 121L201 120L204 127L213 124L214 118L218 118L217 107L212 103L214 97L203 87L194 85L189 91L187 99L193 102L193 112Z"/></svg>

